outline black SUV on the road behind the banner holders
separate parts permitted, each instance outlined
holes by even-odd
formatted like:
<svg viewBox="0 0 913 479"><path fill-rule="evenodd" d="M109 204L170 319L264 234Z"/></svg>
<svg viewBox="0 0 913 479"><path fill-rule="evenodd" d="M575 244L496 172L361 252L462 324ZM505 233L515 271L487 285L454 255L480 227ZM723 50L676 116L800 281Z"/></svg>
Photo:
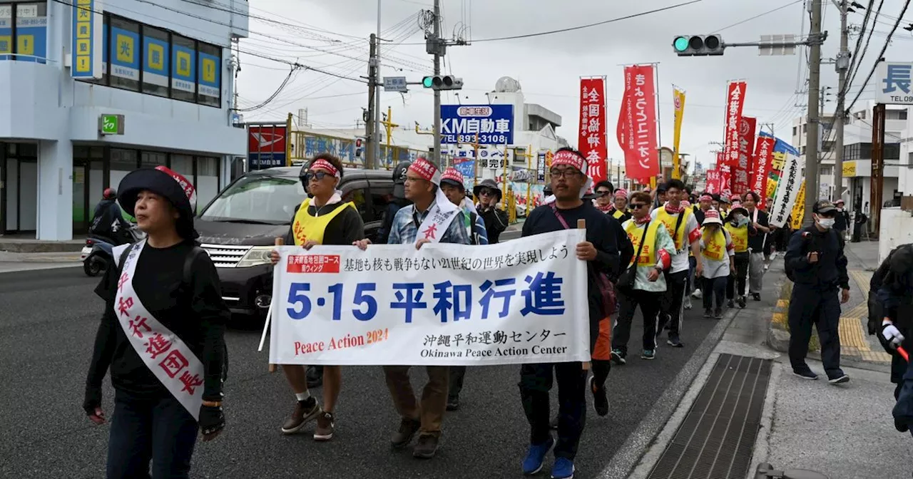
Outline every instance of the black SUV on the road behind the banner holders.
<svg viewBox="0 0 913 479"><path fill-rule="evenodd" d="M248 172L206 205L195 219L200 243L213 259L222 297L233 313L265 317L272 300L269 252L289 232L292 213L305 198L299 168ZM343 202L353 202L372 241L393 200L392 172L346 169L339 186Z"/></svg>

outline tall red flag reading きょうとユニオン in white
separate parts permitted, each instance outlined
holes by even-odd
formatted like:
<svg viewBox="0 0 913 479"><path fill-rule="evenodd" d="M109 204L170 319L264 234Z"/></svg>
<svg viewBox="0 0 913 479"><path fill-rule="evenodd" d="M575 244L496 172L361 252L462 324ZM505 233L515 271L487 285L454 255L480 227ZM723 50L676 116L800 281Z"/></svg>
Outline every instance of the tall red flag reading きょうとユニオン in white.
<svg viewBox="0 0 913 479"><path fill-rule="evenodd" d="M656 140L656 84L653 66L624 68L624 98L618 115L618 145L628 178L649 182L659 174Z"/></svg>

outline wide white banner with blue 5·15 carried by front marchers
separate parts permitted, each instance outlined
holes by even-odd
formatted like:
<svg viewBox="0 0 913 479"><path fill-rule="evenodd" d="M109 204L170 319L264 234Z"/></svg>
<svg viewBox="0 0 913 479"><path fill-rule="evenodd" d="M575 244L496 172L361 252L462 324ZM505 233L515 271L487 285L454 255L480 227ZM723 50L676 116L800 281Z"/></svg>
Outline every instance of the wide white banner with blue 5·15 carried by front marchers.
<svg viewBox="0 0 913 479"><path fill-rule="evenodd" d="M278 246L269 362L590 360L583 230L498 245Z"/></svg>

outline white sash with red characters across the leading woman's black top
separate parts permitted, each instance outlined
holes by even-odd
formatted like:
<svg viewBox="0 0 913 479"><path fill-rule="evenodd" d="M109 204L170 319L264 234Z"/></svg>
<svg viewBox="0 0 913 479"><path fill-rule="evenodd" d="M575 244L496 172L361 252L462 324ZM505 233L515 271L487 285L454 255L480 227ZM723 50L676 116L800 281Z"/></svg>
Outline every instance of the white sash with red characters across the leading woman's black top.
<svg viewBox="0 0 913 479"><path fill-rule="evenodd" d="M180 401L187 412L194 416L194 420L197 420L203 403L203 362L181 338L152 317L152 313L142 305L133 289L136 259L145 245L146 241L143 240L134 245L114 248L114 261L118 263L123 251L131 247L118 279L114 314L142 362L146 363L146 367L171 392L174 399Z"/></svg>

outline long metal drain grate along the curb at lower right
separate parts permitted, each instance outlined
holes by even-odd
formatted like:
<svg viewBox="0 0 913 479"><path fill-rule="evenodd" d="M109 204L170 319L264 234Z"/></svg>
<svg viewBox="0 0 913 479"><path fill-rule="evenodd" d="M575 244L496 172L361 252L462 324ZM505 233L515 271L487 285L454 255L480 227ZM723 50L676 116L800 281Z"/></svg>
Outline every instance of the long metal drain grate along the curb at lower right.
<svg viewBox="0 0 913 479"><path fill-rule="evenodd" d="M769 359L720 354L648 479L744 479L770 379Z"/></svg>

